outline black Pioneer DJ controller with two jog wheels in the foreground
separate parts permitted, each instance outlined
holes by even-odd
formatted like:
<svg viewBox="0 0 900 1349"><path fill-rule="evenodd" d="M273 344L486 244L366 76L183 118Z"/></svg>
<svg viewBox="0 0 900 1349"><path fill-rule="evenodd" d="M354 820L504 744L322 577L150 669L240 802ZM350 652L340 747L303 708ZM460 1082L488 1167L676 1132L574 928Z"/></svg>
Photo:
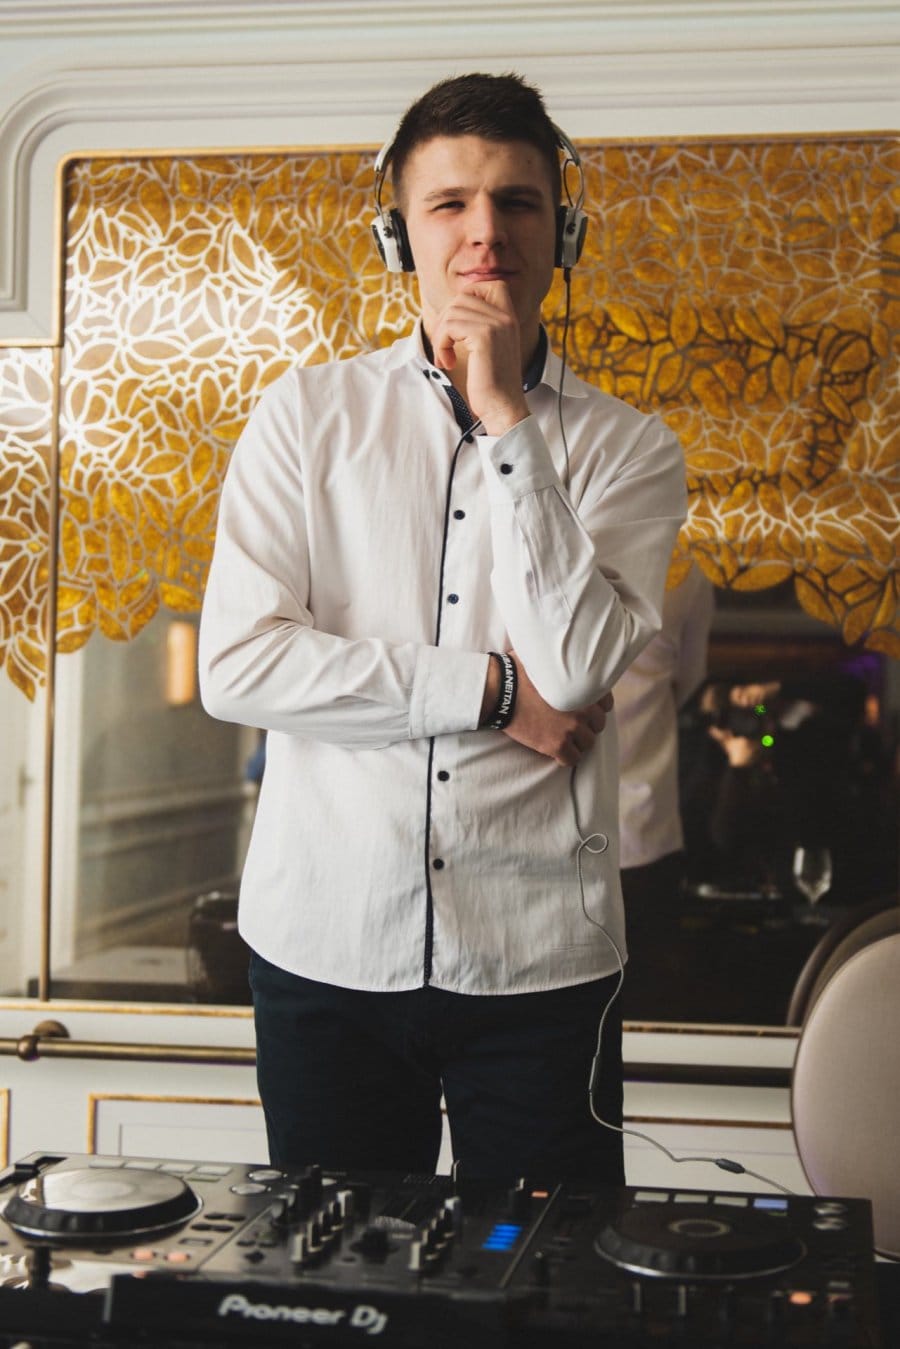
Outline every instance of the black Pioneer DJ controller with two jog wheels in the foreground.
<svg viewBox="0 0 900 1349"><path fill-rule="evenodd" d="M32 1153L0 1349L877 1349L868 1202Z"/></svg>

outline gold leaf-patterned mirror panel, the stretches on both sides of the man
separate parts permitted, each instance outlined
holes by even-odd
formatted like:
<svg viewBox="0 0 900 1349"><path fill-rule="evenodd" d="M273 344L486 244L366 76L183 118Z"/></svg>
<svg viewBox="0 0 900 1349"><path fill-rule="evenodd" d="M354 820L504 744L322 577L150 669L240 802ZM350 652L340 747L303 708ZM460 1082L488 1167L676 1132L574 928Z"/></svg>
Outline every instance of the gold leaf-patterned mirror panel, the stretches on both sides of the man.
<svg viewBox="0 0 900 1349"><path fill-rule="evenodd" d="M681 438L691 513L673 579L691 554L723 587L793 575L847 642L900 654L897 139L582 156L592 224L569 364ZM378 262L371 186L371 154L349 151L69 166L62 650L96 631L127 641L159 607L197 610L228 456L262 389L409 329L414 283ZM557 281L557 345L563 314ZM39 585L23 572L22 612ZM8 662L13 630L0 641Z"/></svg>

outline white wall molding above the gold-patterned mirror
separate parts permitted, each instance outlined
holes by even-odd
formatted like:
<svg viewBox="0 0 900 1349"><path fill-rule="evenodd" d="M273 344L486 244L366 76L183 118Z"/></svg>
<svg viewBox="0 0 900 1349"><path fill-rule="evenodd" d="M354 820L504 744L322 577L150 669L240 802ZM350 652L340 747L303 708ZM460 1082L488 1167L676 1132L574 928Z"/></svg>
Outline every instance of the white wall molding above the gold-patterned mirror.
<svg viewBox="0 0 900 1349"><path fill-rule="evenodd" d="M576 138L900 124L895 0L0 0L0 341L23 345L59 340L73 154L375 144L472 66L521 70Z"/></svg>

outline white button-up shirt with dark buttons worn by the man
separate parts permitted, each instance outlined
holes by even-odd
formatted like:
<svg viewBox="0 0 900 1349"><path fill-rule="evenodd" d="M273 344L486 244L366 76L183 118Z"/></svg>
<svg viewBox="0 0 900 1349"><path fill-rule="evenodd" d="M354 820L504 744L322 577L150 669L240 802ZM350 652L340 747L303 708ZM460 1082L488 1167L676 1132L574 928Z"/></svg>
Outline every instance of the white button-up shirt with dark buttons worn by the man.
<svg viewBox="0 0 900 1349"><path fill-rule="evenodd" d="M478 723L491 650L553 707L615 684L660 626L684 465L571 372L564 445L559 379L549 352L530 417L460 440L417 331L289 371L235 448L201 689L269 733L240 931L282 969L519 993L618 967L614 718L573 784Z"/></svg>

